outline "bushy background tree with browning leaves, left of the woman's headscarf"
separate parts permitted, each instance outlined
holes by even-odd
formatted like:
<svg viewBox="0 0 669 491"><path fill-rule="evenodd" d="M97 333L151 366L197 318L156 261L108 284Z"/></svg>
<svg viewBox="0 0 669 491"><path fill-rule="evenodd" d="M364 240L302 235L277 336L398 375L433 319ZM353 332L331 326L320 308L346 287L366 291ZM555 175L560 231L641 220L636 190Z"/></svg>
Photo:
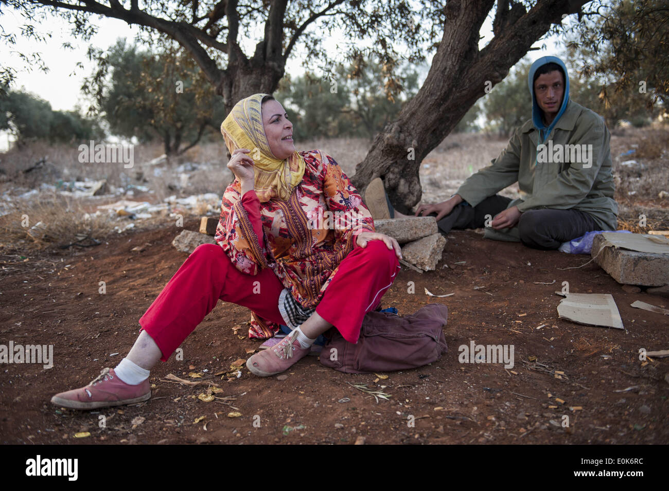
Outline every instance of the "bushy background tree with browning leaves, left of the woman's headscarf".
<svg viewBox="0 0 669 491"><path fill-rule="evenodd" d="M113 134L141 142L159 138L165 154L178 155L205 131L219 132L225 107L178 45L158 49L139 51L117 41L84 87L96 95L94 110L104 114Z"/></svg>

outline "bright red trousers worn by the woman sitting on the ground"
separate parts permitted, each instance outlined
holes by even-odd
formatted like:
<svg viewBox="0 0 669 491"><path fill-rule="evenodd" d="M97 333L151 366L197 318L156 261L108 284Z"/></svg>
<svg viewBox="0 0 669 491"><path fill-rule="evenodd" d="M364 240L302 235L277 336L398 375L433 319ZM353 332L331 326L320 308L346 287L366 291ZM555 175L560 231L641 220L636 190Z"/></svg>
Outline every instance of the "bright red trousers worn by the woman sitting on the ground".
<svg viewBox="0 0 669 491"><path fill-rule="evenodd" d="M374 310L399 271L395 251L382 240L355 247L339 265L316 312L356 343L363 317ZM284 285L274 271L246 275L217 244L202 244L186 259L151 307L139 319L163 353L169 356L222 300L248 307L260 317L286 324L278 301Z"/></svg>

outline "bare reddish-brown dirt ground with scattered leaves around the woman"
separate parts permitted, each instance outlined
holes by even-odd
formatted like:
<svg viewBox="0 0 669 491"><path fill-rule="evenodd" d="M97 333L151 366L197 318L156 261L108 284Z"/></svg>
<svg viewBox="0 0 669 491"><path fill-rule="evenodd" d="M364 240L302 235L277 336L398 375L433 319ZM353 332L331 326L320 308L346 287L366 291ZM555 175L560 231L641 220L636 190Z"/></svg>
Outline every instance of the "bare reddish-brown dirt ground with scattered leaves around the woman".
<svg viewBox="0 0 669 491"><path fill-rule="evenodd" d="M195 230L196 223L187 228ZM449 351L432 365L387 373L375 383L374 374L339 373L307 357L285 380L255 377L246 368L239 379L221 380L213 374L246 359L246 350L260 343L237 337L246 331L248 309L219 302L183 343L183 361L172 356L151 372L155 387L149 401L100 412L52 405L54 393L85 385L127 353L139 317L185 261L186 255L171 246L178 231L123 234L98 247L29 255L27 262L19 253L2 257L0 344L54 345L52 369L0 365L4 444L351 444L360 436L367 444L669 442L669 383L664 380L669 359L642 364L638 355L641 347L669 347L669 322L630 307L642 300L666 308L669 301L626 293L593 263L558 269L582 265L586 256L533 251L471 231L450 234L437 271L421 275L403 268L383 297L383 307L397 307L400 314L430 302L448 305ZM142 251L132 251L138 246ZM456 264L460 261L466 263ZM101 280L104 295L98 293ZM407 293L409 281L415 283L414 294ZM626 329L557 319L561 297L553 292L563 281L569 281L571 292L613 294ZM423 288L455 295L436 299ZM237 335L235 325L242 325ZM515 366L459 363L458 347L472 340L514 345ZM537 361L528 361L531 356ZM537 363L549 372L538 371ZM228 418L235 409L223 401L197 399L202 387L163 380L168 373L188 378L203 369L205 379L223 389L218 396L236 397L229 403L241 417ZM564 372L561 379L552 373L556 370ZM387 385L383 391L391 397L376 403L347 382ZM622 391L628 387L633 388ZM98 426L100 415L106 416L106 428ZM568 428L561 425L565 415ZM205 419L195 423L201 416ZM409 416L415 418L414 428L407 424ZM79 432L90 436L75 438Z"/></svg>

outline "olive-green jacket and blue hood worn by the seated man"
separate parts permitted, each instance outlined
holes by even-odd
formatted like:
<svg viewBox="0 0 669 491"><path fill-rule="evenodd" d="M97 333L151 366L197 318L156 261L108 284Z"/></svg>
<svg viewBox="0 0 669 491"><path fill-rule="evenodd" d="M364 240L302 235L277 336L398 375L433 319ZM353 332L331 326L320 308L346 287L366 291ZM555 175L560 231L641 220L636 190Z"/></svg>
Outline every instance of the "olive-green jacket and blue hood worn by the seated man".
<svg viewBox="0 0 669 491"><path fill-rule="evenodd" d="M566 83L561 110L547 127L534 96L533 75L541 65L550 62L563 67ZM617 204L613 199L611 136L603 119L569 100L569 75L557 57L535 61L528 84L533 94L533 119L516 130L492 165L470 176L456 194L476 206L518 182L520 199L510 202L508 208L518 206L521 212L575 208L589 213L602 230L615 230ZM517 226L504 230L488 227L485 236L518 240Z"/></svg>

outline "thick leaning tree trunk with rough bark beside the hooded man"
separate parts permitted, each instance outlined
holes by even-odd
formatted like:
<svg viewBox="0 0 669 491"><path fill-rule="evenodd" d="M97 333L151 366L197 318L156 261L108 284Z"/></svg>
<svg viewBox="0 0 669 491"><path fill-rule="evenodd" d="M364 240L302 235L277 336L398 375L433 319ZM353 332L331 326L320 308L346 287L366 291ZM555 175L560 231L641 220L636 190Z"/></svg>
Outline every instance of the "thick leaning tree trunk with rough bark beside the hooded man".
<svg viewBox="0 0 669 491"><path fill-rule="evenodd" d="M479 50L480 27L494 0L449 0L444 36L425 83L397 119L377 135L365 160L356 166L353 184L363 191L380 176L393 206L409 212L421 199L418 172L423 158L486 94L486 86L502 81L552 23L559 23L565 13L576 13L585 3L545 0L525 13L518 3L511 2L509 7L508 1L500 1L493 23L495 37Z"/></svg>

